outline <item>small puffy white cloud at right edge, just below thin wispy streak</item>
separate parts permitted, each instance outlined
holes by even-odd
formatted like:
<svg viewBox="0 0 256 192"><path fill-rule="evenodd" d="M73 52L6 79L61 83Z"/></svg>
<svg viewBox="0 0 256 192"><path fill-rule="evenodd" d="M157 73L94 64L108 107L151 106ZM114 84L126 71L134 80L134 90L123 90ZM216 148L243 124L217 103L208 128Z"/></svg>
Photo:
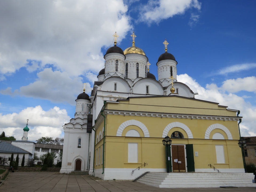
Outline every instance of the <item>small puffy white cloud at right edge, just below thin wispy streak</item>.
<svg viewBox="0 0 256 192"><path fill-rule="evenodd" d="M222 89L230 93L239 91L249 91L256 93L256 77L245 77L237 79L227 79L223 82Z"/></svg>

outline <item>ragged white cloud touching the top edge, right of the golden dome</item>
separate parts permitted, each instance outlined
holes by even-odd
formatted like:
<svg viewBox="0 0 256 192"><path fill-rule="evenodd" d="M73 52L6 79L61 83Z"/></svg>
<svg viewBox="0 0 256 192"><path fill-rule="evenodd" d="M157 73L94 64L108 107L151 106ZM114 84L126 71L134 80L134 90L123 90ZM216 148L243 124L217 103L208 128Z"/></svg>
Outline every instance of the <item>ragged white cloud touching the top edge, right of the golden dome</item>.
<svg viewBox="0 0 256 192"><path fill-rule="evenodd" d="M150 0L142 8L141 19L147 23L159 23L162 19L183 14L187 9L201 9L201 3L197 0Z"/></svg>

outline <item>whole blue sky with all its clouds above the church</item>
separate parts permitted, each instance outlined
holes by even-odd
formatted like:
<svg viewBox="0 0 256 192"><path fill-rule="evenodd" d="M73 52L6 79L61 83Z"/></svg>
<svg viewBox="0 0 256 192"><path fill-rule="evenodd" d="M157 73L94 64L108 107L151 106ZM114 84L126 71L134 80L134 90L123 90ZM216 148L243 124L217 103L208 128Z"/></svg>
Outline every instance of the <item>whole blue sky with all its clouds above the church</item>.
<svg viewBox="0 0 256 192"><path fill-rule="evenodd" d="M256 136L256 1L1 1L0 132L29 140L63 137L75 99L90 95L103 55L135 46L156 62L168 52L177 80L243 116L242 136Z"/></svg>

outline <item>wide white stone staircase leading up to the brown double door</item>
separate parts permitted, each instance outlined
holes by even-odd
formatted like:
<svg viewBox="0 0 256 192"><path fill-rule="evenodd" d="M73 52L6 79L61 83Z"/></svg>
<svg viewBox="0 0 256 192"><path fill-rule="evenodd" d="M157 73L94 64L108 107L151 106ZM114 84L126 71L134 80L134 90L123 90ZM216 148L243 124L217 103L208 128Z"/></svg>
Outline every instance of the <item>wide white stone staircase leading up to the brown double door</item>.
<svg viewBox="0 0 256 192"><path fill-rule="evenodd" d="M255 187L253 173L159 173L150 172L137 182L159 188Z"/></svg>

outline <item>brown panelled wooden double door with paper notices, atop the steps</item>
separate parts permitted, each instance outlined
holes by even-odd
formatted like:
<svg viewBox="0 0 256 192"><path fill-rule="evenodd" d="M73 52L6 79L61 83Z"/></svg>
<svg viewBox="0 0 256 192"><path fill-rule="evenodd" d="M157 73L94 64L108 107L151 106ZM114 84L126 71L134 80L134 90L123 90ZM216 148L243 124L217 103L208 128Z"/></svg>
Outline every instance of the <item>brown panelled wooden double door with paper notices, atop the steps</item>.
<svg viewBox="0 0 256 192"><path fill-rule="evenodd" d="M184 145L172 145L171 146L172 153L172 163L173 163L173 171L186 171L186 162L185 162L185 149ZM175 159L178 159L176 163ZM181 162L181 163L179 163Z"/></svg>

